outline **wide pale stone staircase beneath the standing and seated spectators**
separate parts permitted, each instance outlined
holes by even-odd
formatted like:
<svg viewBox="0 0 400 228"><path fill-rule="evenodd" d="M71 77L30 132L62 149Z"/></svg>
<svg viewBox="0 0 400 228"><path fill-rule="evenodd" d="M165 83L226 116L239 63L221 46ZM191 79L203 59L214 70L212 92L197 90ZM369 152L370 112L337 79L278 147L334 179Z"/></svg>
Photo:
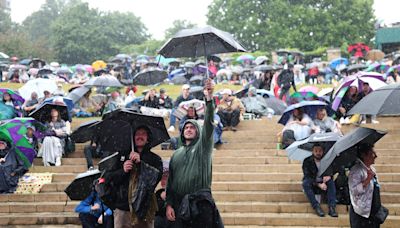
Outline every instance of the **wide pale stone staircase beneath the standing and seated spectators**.
<svg viewBox="0 0 400 228"><path fill-rule="evenodd" d="M379 120L380 124L367 126L389 130L376 144L382 202L390 210L382 227L400 227L400 118ZM74 126L84 121L74 120ZM224 132L228 142L214 151L213 196L226 227L348 227L343 205L338 205L339 218L314 214L302 192L301 163L276 149L276 133L282 129L276 122L276 118L243 121L237 132ZM78 144L74 154L63 158L61 167L43 167L36 159L30 172L54 173L52 183L39 194L0 195L0 226L79 227L74 213L79 202L67 200L63 191L86 171L83 146ZM153 151L164 159L173 153L160 147ZM327 211L326 205L323 209Z"/></svg>

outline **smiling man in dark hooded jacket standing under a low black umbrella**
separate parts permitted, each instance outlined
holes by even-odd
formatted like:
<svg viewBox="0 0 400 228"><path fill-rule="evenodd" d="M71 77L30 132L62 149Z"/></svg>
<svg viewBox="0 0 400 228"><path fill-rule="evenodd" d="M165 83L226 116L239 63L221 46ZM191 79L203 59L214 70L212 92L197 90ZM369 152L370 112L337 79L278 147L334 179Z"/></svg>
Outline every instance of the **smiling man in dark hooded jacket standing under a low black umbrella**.
<svg viewBox="0 0 400 228"><path fill-rule="evenodd" d="M131 202L129 202L129 192L132 192L132 189L130 189L132 186L132 177L134 177L135 173L140 173L139 164L141 161L159 171L157 182L161 180L163 163L160 156L150 151L149 142L151 142L151 131L148 127L140 126L136 128L133 137L135 145L134 151L131 151L130 153L122 153L120 158L122 164L120 168L106 176L108 181L113 182L113 186L115 187L113 190L117 191L115 199L116 209L114 210L114 226L153 227L156 211L148 211L148 216L146 216L146 219L144 220L131 220L132 213L134 212L130 211ZM133 182L137 183L137 178L136 181L133 180ZM152 192L154 192L154 189ZM135 226L133 226L133 224L135 224Z"/></svg>

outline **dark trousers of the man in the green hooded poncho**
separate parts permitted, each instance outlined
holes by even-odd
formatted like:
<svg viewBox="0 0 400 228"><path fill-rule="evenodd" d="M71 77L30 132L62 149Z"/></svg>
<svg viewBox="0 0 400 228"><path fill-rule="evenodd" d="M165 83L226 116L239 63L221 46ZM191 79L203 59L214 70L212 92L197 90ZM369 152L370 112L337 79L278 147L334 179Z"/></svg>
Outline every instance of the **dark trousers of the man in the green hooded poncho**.
<svg viewBox="0 0 400 228"><path fill-rule="evenodd" d="M197 203L197 208L200 214L194 218L192 221L187 222L180 219L178 216L176 221L171 224L172 228L206 228L213 227L214 214L213 207L208 201L199 201ZM178 211L175 210L175 215L178 215Z"/></svg>

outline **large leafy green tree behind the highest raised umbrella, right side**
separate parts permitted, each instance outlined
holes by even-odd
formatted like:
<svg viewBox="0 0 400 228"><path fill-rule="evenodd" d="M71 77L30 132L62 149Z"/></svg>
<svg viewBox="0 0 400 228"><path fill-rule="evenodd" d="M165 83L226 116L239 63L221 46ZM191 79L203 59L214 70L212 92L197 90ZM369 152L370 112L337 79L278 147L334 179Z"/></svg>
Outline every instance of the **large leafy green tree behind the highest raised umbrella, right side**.
<svg viewBox="0 0 400 228"><path fill-rule="evenodd" d="M340 47L370 43L373 0L214 0L208 23L231 32L250 50ZM239 7L240 6L240 7Z"/></svg>

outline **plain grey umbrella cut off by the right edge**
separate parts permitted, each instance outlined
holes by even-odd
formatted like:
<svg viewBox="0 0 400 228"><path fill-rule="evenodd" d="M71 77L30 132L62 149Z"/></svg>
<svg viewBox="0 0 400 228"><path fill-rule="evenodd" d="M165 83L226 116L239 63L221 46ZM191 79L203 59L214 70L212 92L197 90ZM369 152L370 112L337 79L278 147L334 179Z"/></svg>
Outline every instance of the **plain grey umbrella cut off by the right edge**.
<svg viewBox="0 0 400 228"><path fill-rule="evenodd" d="M372 91L361 99L348 115L399 115L400 114L400 84L392 84Z"/></svg>

